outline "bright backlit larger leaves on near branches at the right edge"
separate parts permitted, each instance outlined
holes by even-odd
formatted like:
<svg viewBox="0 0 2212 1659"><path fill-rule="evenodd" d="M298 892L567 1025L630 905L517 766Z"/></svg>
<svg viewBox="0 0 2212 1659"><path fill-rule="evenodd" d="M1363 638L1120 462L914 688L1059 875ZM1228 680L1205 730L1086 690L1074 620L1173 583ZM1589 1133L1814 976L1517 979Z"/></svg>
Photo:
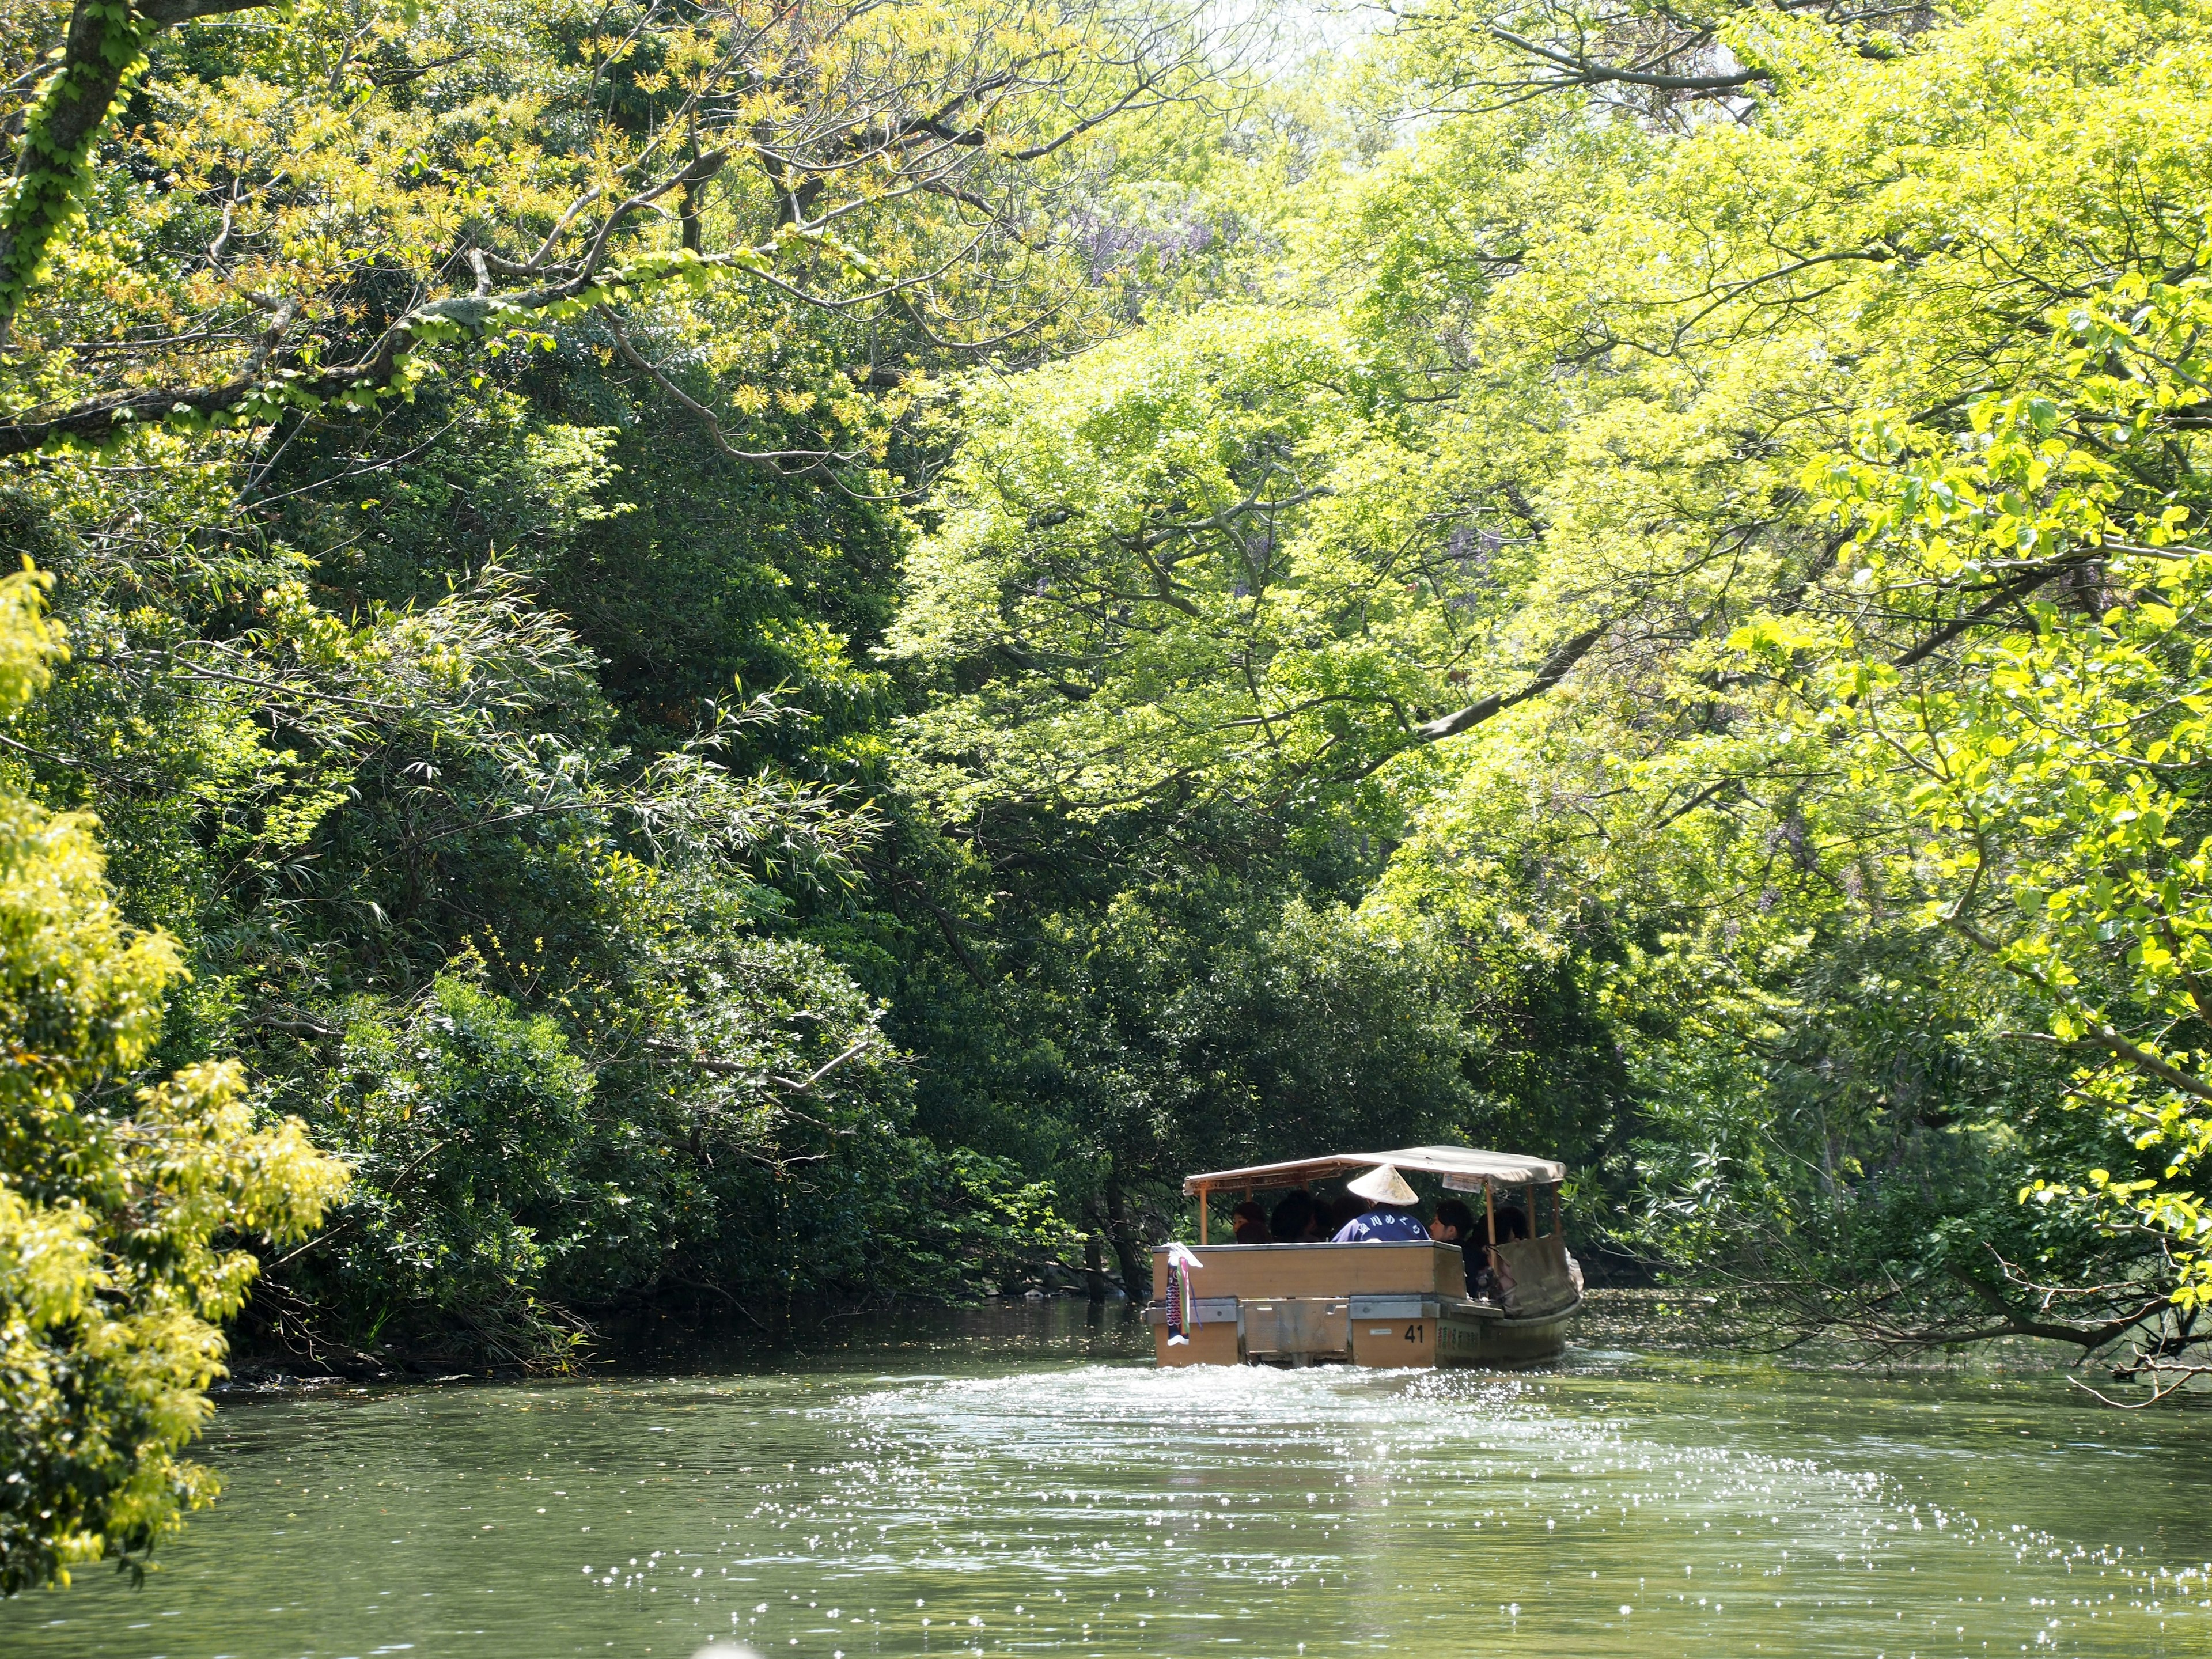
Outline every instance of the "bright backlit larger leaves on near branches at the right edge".
<svg viewBox="0 0 2212 1659"><path fill-rule="evenodd" d="M1814 480L1860 524L1874 595L1962 573L2033 593L2015 626L1986 630L1909 695L1838 641L1827 672L1849 714L1832 719L1856 728L1854 783L1898 794L1924 922L2017 978L2064 1053L2104 1053L2070 1071L2070 1104L2121 1128L2135 1168L2055 1170L2020 1197L2084 1203L2108 1230L2154 1241L2163 1274L2143 1287L2170 1281L2183 1310L2212 1290L2199 1194L2212 1152L2212 1004L2199 1000L2212 967L2212 555L2181 540L2203 487L2174 462L2205 400L2208 314L2201 281L2124 283L2053 319L2075 341L2053 385L2070 405L1982 400L1975 442L1951 456L1869 422L1860 458ZM2053 582L2073 591L2044 597Z"/></svg>

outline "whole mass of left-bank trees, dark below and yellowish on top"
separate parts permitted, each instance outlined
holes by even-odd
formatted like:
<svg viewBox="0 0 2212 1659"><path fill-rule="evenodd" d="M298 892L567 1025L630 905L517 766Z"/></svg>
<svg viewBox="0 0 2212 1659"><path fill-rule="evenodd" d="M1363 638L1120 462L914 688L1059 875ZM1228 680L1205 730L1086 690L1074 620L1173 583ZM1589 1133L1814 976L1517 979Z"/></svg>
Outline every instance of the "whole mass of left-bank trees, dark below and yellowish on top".
<svg viewBox="0 0 2212 1659"><path fill-rule="evenodd" d="M978 1239L1035 1208L900 1133L880 1009L799 938L880 823L854 635L929 372L1117 323L1068 219L1219 40L1091 0L226 11L0 44L0 513L80 641L0 745L175 933L164 1062L252 1055L354 1159L250 1334L560 1363L622 1296L942 1290L790 1250L885 1168L849 1141Z"/></svg>

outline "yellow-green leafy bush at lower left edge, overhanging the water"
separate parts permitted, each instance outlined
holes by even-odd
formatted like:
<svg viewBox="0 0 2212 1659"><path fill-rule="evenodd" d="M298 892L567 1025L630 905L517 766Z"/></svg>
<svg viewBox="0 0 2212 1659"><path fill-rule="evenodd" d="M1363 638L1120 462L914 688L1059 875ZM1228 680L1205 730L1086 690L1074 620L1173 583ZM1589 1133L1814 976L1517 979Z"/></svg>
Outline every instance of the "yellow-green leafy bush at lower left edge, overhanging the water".
<svg viewBox="0 0 2212 1659"><path fill-rule="evenodd" d="M60 650L40 580L0 586L0 699ZM179 1449L223 1369L219 1323L345 1183L232 1062L133 1084L177 947L131 929L91 821L0 796L0 1593L115 1557L142 1573L215 1495Z"/></svg>

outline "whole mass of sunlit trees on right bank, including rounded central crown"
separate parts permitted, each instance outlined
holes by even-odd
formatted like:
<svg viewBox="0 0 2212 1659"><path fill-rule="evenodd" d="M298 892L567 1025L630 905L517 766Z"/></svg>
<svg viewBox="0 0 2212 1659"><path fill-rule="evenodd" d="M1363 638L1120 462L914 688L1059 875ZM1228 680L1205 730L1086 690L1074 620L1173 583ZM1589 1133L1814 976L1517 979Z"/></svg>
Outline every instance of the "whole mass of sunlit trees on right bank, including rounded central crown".
<svg viewBox="0 0 2212 1659"><path fill-rule="evenodd" d="M1882 1340L2183 1340L2208 13L1885 27L1411 15L1411 137L1259 303L969 394L900 776L1013 896L1265 814L1279 891L1442 942L1471 1099L1613 1051L1553 1121L1632 1248Z"/></svg>

